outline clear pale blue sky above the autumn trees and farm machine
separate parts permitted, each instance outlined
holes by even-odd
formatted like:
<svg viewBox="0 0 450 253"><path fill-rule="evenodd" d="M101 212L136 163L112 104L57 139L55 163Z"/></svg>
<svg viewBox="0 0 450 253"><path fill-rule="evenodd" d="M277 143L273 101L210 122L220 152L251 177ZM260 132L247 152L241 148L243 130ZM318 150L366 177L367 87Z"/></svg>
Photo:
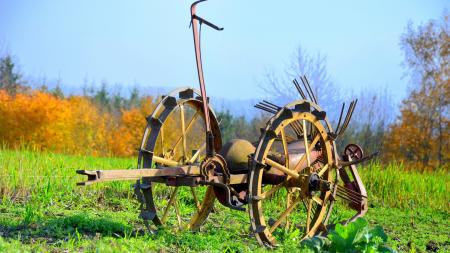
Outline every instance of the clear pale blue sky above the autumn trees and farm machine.
<svg viewBox="0 0 450 253"><path fill-rule="evenodd" d="M198 86L190 1L0 0L0 50L35 80L132 86ZM265 97L267 69L282 72L299 45L328 58L345 90L388 87L406 94L399 37L408 21L440 17L448 2L219 1L199 15L225 27L204 29L207 91L216 97Z"/></svg>

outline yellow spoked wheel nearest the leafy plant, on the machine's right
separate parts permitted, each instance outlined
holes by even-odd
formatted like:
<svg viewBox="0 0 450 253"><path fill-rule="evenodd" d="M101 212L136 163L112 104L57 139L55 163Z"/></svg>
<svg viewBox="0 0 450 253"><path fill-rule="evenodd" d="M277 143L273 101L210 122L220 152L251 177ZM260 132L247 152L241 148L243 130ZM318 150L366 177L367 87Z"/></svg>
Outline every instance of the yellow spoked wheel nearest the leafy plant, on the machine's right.
<svg viewBox="0 0 450 253"><path fill-rule="evenodd" d="M326 230L336 179L328 127L325 114L308 101L289 104L269 120L249 179L249 214L261 244Z"/></svg>

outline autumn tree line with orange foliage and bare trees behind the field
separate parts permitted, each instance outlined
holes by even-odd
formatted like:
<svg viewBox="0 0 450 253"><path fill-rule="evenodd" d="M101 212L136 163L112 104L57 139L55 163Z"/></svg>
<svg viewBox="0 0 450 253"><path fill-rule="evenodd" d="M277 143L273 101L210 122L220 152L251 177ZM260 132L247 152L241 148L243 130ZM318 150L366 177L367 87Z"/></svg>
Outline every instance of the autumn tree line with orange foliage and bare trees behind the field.
<svg viewBox="0 0 450 253"><path fill-rule="evenodd" d="M367 154L381 151L381 161L398 161L411 169L448 167L450 159L450 80L448 15L438 21L406 28L400 38L404 68L410 79L408 96L398 108L386 90L352 94L359 99L353 121L340 147L359 143ZM326 71L326 58L299 48L284 75L268 72L261 89L279 105L298 99L291 80L306 73L319 104L336 125L339 90ZM160 99L135 88L124 97L106 83L83 88L81 95L64 94L61 83L48 89L30 88L13 57L0 59L0 141L4 148L94 156L132 156L139 146L146 116ZM35 85L36 86L36 85ZM348 99L350 100L350 98ZM214 99L212 100L214 106ZM397 112L397 113L396 113ZM257 141L270 115L253 118L218 112L225 141ZM334 117L333 117L334 116ZM167 129L166 131L178 131Z"/></svg>

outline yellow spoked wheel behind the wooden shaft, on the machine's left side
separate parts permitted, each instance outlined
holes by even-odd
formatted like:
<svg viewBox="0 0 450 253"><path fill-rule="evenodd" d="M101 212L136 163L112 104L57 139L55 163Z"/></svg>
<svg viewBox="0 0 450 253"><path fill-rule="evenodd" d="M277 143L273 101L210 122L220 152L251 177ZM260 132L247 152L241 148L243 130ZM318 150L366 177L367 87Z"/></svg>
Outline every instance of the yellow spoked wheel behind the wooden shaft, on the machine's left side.
<svg viewBox="0 0 450 253"><path fill-rule="evenodd" d="M221 148L217 119L210 111L216 150ZM205 154L205 122L201 100L193 89L179 89L164 97L147 117L138 167L161 168L199 164ZM197 230L212 211L211 187L180 186L192 177L142 178L141 217L151 228L164 225L177 230ZM169 182L169 184L167 184ZM178 185L178 186L177 186ZM138 196L139 198L139 196Z"/></svg>

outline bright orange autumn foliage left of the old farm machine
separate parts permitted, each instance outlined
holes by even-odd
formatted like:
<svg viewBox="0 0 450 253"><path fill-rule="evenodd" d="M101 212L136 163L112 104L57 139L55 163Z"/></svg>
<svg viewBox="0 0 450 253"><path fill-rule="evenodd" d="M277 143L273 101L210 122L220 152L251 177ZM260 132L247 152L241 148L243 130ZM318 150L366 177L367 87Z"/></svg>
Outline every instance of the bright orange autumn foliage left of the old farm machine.
<svg viewBox="0 0 450 253"><path fill-rule="evenodd" d="M88 98L57 98L34 91L9 95L0 90L0 144L70 154L130 156L145 129L145 116L154 108L102 112Z"/></svg>

